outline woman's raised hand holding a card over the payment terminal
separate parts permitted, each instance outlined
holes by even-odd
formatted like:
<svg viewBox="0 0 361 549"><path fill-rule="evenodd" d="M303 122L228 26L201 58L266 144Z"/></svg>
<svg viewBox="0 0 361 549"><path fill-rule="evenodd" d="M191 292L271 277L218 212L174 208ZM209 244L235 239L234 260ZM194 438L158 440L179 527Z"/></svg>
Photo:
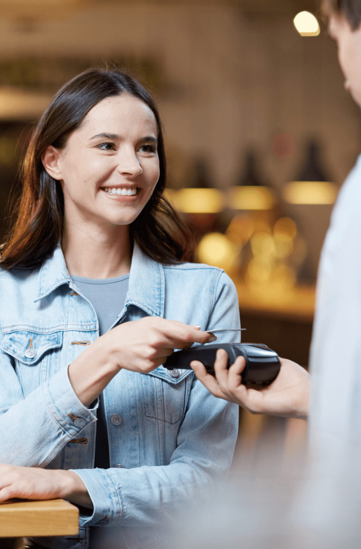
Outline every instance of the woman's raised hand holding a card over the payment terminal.
<svg viewBox="0 0 361 549"><path fill-rule="evenodd" d="M198 326L160 317L125 322L101 335L71 363L69 380L78 399L89 406L122 368L146 374L174 349L215 339Z"/></svg>

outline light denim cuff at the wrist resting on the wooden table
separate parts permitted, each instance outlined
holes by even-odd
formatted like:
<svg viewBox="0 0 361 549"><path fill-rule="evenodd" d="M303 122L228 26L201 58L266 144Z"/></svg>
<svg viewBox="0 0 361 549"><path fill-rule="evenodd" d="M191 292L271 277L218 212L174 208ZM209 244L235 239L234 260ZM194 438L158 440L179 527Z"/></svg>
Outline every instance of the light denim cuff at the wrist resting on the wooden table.
<svg viewBox="0 0 361 549"><path fill-rule="evenodd" d="M118 525L122 515L122 502L111 475L105 469L71 470L86 485L94 506L91 517L80 514L80 526Z"/></svg>

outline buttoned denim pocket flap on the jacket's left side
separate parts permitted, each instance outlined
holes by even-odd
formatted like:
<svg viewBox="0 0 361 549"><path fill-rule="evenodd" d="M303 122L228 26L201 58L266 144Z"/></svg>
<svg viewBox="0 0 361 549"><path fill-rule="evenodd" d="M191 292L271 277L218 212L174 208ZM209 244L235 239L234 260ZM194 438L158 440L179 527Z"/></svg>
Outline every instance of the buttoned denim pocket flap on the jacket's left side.
<svg viewBox="0 0 361 549"><path fill-rule="evenodd" d="M5 335L1 349L24 364L32 366L49 349L57 349L63 344L63 332L35 334L19 331Z"/></svg>

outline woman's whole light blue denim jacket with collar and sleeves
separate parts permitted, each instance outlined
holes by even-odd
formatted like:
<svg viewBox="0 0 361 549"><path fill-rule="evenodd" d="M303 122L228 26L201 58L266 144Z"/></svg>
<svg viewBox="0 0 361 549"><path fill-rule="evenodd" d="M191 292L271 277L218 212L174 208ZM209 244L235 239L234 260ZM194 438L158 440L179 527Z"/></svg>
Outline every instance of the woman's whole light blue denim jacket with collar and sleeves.
<svg viewBox="0 0 361 549"><path fill-rule="evenodd" d="M144 316L202 329L240 327L236 290L223 271L164 266L135 245L114 326ZM156 547L161 525L227 474L238 407L213 397L193 371L174 378L162 366L148 375L122 369L106 387L110 469L93 468L99 402L81 404L67 366L99 337L99 325L60 247L37 270L0 271L0 327L0 462L75 470L94 505L91 516L81 514L79 535L38 540L42 545L88 549L92 531L106 526L119 531L117 547ZM112 423L113 414L122 422Z"/></svg>

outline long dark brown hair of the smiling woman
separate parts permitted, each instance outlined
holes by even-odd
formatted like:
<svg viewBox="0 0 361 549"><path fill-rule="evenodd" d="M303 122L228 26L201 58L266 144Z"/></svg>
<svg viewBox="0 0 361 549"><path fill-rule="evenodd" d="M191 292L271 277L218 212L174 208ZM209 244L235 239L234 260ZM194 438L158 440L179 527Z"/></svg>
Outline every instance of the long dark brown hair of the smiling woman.
<svg viewBox="0 0 361 549"><path fill-rule="evenodd" d="M67 138L102 99L129 93L153 111L158 128L159 180L153 195L129 227L130 237L143 252L164 264L193 261L194 240L189 229L163 196L166 159L158 110L146 89L117 68L88 69L56 94L33 131L22 162L21 197L1 250L0 267L32 269L51 255L61 240L64 198L60 182L50 177L41 157L49 145L64 148Z"/></svg>

